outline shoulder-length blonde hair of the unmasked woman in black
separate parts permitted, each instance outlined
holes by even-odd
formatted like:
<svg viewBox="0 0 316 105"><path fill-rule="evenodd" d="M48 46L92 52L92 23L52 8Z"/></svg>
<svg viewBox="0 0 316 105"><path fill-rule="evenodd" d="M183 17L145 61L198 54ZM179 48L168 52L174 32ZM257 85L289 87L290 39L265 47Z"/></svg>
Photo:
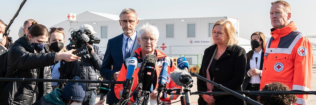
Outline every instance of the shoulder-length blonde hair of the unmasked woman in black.
<svg viewBox="0 0 316 105"><path fill-rule="evenodd" d="M213 30L214 30L215 25L224 26L224 31L228 35L228 41L226 42L226 46L237 45L238 41L236 38L236 31L232 22L226 19L216 21L216 23L213 25L213 28L212 28L212 36L213 36ZM214 42L213 38L212 38L212 41Z"/></svg>

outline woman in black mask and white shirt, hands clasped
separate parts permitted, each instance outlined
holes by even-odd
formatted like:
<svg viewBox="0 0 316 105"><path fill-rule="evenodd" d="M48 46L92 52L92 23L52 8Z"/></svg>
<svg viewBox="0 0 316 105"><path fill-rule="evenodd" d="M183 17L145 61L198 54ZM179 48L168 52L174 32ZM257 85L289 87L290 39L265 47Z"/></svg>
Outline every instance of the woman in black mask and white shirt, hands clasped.
<svg viewBox="0 0 316 105"><path fill-rule="evenodd" d="M251 36L251 48L247 55L247 66L244 83L242 85L243 91L259 91L260 80L262 75L263 57L265 38L262 32L254 32ZM257 101L256 95L246 95ZM250 105L248 102L246 105Z"/></svg>

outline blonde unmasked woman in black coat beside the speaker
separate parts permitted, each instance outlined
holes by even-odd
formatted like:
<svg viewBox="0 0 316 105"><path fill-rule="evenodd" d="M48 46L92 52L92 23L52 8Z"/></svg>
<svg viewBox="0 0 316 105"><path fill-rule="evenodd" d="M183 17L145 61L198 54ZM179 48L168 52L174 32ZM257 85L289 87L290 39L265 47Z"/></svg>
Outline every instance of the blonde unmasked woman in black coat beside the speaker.
<svg viewBox="0 0 316 105"><path fill-rule="evenodd" d="M246 51L237 46L236 32L233 24L222 19L212 29L214 45L205 49L199 75L227 87L241 91L246 69ZM203 80L197 79L197 91L223 91ZM233 95L200 95L199 105L241 105L244 101Z"/></svg>

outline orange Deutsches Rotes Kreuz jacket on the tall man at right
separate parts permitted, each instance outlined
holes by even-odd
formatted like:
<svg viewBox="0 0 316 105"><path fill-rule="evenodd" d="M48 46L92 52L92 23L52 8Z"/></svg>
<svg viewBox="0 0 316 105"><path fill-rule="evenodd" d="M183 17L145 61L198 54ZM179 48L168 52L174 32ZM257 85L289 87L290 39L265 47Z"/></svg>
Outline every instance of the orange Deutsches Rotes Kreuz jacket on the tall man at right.
<svg viewBox="0 0 316 105"><path fill-rule="evenodd" d="M309 91L312 81L313 48L292 21L282 29L271 29L264 53L260 89L281 82L292 90ZM297 105L305 105L307 95L298 95Z"/></svg>

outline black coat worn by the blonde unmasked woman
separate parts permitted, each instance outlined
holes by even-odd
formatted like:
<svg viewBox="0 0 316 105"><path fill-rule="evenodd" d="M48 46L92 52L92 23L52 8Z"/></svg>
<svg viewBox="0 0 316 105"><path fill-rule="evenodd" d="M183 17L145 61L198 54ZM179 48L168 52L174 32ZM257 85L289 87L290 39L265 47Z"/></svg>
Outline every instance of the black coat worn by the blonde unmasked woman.
<svg viewBox="0 0 316 105"><path fill-rule="evenodd" d="M206 69L210 63L213 53L217 45L212 45L206 48L202 60L201 69L199 70L200 76L206 78ZM226 48L225 52L215 63L214 82L221 84L233 91L241 91L241 84L244 80L246 69L246 51L244 48L234 45ZM197 91L207 91L206 82L201 79L197 79ZM213 92L223 91L214 86ZM213 96L215 105L243 105L244 101L233 95L221 95ZM206 105L202 95L198 99L199 105Z"/></svg>

